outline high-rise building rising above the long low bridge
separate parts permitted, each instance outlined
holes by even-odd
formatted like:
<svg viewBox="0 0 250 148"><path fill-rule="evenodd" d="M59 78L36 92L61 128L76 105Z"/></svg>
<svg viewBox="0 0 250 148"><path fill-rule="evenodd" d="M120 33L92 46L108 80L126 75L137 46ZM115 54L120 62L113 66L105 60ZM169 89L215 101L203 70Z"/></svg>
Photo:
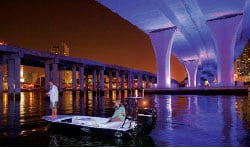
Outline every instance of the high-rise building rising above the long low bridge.
<svg viewBox="0 0 250 148"><path fill-rule="evenodd" d="M69 56L69 47L65 42L55 43L51 47L51 53Z"/></svg>

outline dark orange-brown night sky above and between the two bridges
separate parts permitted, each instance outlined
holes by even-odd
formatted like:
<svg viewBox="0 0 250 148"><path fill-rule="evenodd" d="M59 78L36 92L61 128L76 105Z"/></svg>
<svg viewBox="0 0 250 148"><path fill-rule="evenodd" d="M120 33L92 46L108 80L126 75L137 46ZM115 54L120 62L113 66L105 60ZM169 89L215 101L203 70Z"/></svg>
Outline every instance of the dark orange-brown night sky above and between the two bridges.
<svg viewBox="0 0 250 148"><path fill-rule="evenodd" d="M0 41L28 49L50 51L64 41L70 56L156 73L149 37L94 0L3 0ZM172 77L185 71L171 57Z"/></svg>

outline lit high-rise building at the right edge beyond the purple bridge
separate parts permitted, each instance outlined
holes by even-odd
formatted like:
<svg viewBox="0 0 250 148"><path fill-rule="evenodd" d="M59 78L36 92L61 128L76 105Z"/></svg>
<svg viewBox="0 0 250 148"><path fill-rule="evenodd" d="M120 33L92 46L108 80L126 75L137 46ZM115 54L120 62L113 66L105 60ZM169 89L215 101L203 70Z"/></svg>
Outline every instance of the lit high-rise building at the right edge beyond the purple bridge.
<svg viewBox="0 0 250 148"><path fill-rule="evenodd" d="M250 79L250 40L242 54L236 59L236 75L242 81Z"/></svg>

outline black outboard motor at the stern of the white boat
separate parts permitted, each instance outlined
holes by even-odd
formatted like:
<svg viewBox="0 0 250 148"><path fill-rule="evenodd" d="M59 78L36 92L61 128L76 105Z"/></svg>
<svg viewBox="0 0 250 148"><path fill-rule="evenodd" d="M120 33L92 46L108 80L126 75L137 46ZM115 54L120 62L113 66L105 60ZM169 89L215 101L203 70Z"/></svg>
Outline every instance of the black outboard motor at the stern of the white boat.
<svg viewBox="0 0 250 148"><path fill-rule="evenodd" d="M157 114L152 108L138 109L137 130L138 134L149 135L156 126Z"/></svg>

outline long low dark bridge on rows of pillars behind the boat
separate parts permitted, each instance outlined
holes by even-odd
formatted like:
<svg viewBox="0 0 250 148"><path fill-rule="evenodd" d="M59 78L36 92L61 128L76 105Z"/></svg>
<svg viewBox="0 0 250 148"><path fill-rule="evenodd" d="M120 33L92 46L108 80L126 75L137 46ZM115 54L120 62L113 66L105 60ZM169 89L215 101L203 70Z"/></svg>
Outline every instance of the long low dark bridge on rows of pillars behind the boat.
<svg viewBox="0 0 250 148"><path fill-rule="evenodd" d="M9 45L0 45L0 77L4 76L3 66L7 64L8 93L19 95L21 92L20 66L33 66L44 68L45 90L49 89L49 81L59 86L59 91L63 91L63 71L72 71L72 90L76 91L77 71L79 72L80 92L84 92L86 78L92 75L93 91L101 95L105 89L105 76L108 77L109 90L112 90L115 81L116 90L142 90L150 88L156 81L156 75L146 72L126 68L117 65L104 64L82 58L74 58L64 55L57 55L48 52L19 48ZM85 78L84 78L85 76ZM3 79L0 79L0 92L3 92ZM144 85L143 85L144 83ZM126 85L127 84L127 85ZM136 85L135 85L136 84ZM119 87L120 85L120 87ZM136 87L135 87L136 86Z"/></svg>

